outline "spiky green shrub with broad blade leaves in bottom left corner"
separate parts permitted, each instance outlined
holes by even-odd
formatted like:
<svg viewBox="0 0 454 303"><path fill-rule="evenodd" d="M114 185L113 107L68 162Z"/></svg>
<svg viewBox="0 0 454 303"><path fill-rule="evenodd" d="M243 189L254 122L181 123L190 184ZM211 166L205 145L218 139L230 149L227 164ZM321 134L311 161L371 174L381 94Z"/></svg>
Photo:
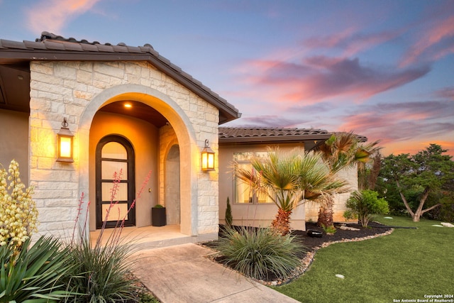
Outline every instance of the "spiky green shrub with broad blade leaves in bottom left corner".
<svg viewBox="0 0 454 303"><path fill-rule="evenodd" d="M41 237L31 246L28 238L20 250L0 247L0 302L50 302L70 295L62 277L72 270L67 248Z"/></svg>

